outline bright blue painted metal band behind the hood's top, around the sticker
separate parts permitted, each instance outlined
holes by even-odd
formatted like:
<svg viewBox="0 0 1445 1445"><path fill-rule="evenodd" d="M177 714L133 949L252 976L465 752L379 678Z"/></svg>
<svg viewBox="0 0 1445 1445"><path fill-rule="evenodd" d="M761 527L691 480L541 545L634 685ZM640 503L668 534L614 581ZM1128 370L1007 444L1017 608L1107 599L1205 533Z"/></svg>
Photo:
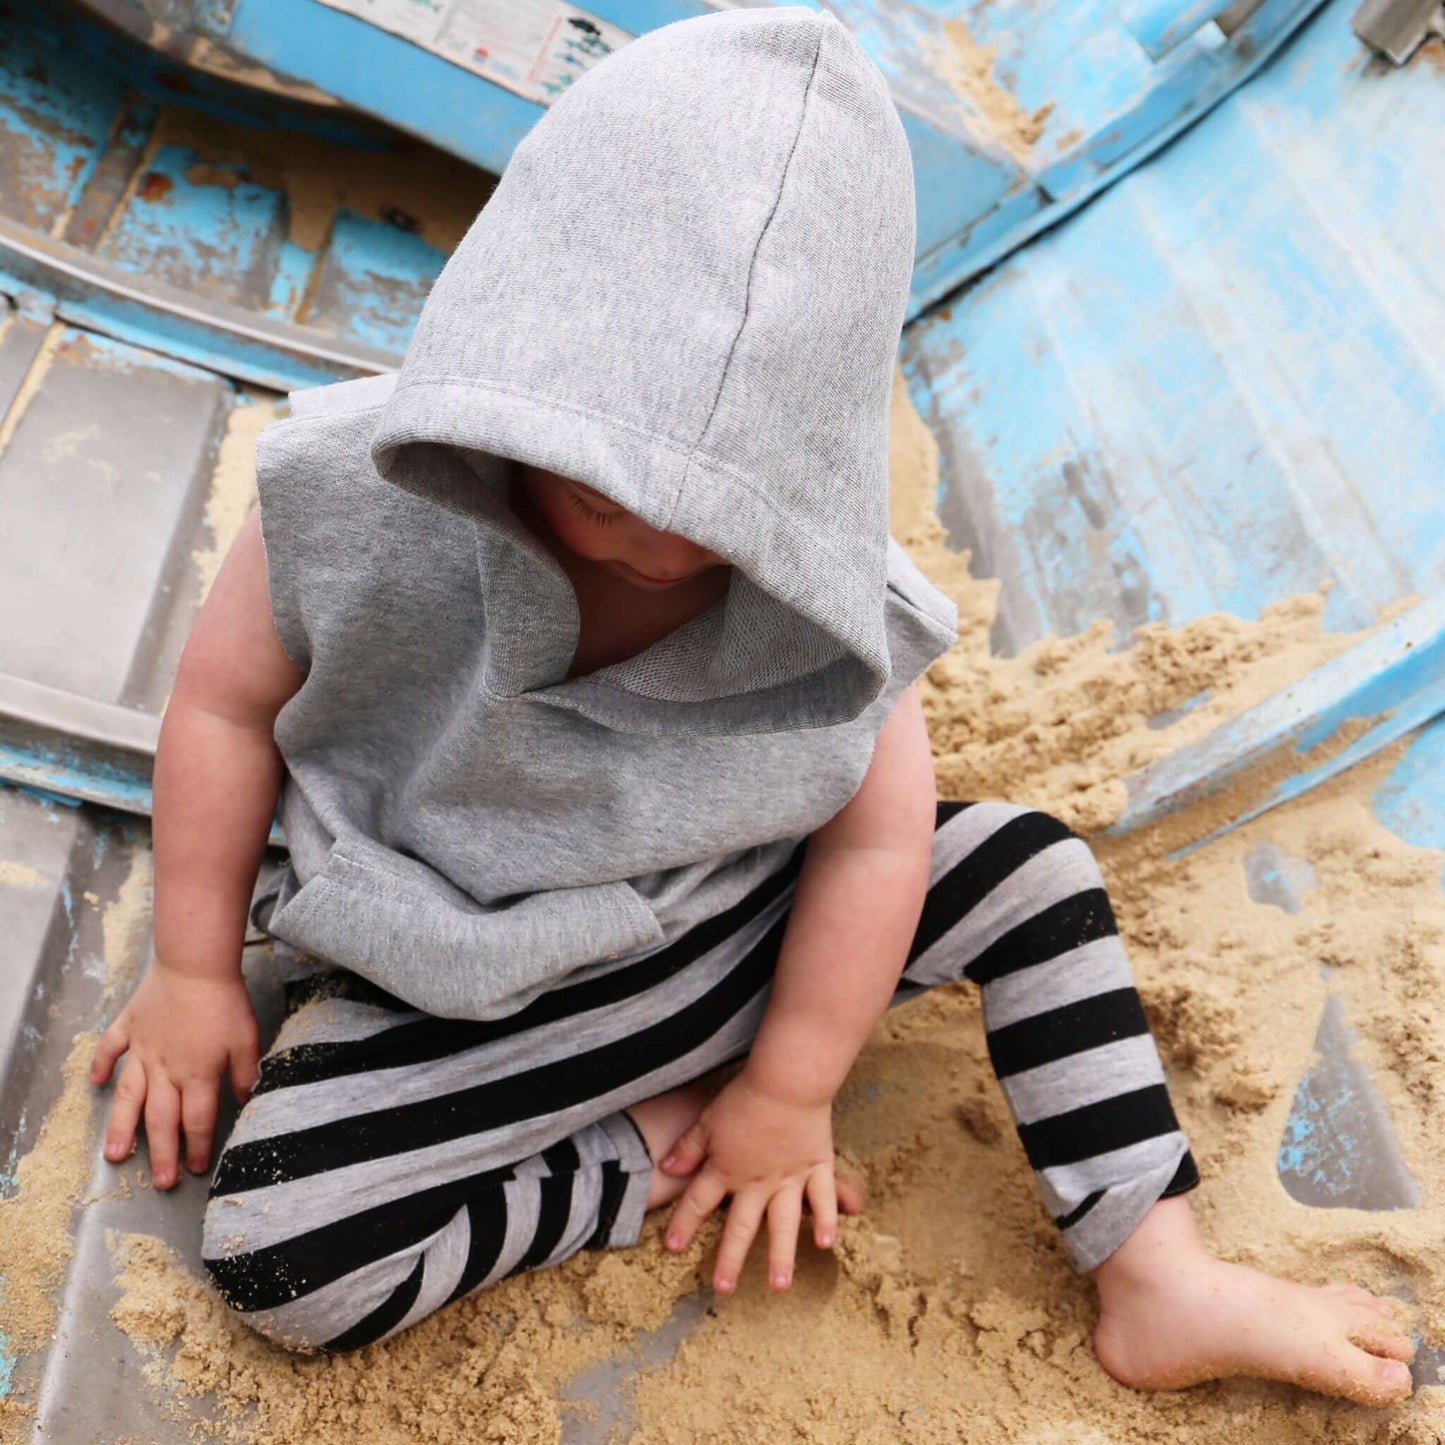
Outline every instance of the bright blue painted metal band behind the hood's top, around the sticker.
<svg viewBox="0 0 1445 1445"><path fill-rule="evenodd" d="M87 3L153 43L175 48L179 30L188 53L201 40L221 45L262 66L266 84L279 75L315 87L488 171L504 169L542 116L536 101L316 0L236 0L223 12L208 0L176 0L163 42L137 0ZM1198 120L1319 0L1235 4L1228 35L1211 23L1222 7L1168 0L1152 7L1157 23L1146 26L1147 45L1110 4L809 3L853 30L905 117L918 181L916 312ZM643 35L709 6L597 0L590 9Z"/></svg>

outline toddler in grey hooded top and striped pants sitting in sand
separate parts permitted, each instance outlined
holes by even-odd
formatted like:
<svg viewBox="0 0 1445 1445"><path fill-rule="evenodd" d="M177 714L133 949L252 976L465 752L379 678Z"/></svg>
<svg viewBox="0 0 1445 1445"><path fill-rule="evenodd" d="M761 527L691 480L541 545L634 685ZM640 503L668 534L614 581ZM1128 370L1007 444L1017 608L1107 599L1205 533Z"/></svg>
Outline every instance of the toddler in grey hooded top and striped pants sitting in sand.
<svg viewBox="0 0 1445 1445"><path fill-rule="evenodd" d="M669 25L566 91L397 377L298 394L156 762L156 959L105 1030L110 1159L210 1162L251 1325L348 1350L670 1204L788 1289L860 1192L831 1103L890 1001L983 987L1104 1367L1409 1393L1386 1302L1212 1259L1088 848L938 803L954 611L887 535L909 150L802 7ZM289 1017L257 1068L257 905ZM728 1061L711 1101L691 1085ZM946 1207L946 1201L939 1201ZM760 1246L764 1247L764 1246Z"/></svg>

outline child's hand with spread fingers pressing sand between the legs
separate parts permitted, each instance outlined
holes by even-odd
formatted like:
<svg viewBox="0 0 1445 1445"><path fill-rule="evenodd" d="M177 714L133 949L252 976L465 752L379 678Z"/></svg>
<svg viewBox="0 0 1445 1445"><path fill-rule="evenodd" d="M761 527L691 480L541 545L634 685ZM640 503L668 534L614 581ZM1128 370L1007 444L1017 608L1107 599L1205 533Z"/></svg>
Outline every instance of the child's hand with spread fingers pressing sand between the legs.
<svg viewBox="0 0 1445 1445"><path fill-rule="evenodd" d="M733 1195L712 1287L727 1295L767 1217L767 1277L773 1289L793 1280L803 1198L812 1208L814 1241L831 1248L838 1233L834 1181L832 1101L793 1104L759 1090L744 1069L678 1140L662 1169L689 1175L701 1165L668 1222L668 1248L686 1248L698 1225Z"/></svg>

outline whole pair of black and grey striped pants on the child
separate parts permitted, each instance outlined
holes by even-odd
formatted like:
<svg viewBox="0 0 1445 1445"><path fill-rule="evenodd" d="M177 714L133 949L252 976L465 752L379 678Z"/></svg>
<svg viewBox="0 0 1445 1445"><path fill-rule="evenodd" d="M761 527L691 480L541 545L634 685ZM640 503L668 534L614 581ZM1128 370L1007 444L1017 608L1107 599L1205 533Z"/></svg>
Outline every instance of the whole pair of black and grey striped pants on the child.
<svg viewBox="0 0 1445 1445"><path fill-rule="evenodd" d="M488 1022L344 970L290 1013L217 1163L202 1256L272 1338L350 1350L522 1270L637 1240L652 1173L623 1113L747 1053L802 847L672 944ZM941 803L896 1003L968 978L1043 1202L1084 1270L1198 1182L1098 866L1061 822Z"/></svg>

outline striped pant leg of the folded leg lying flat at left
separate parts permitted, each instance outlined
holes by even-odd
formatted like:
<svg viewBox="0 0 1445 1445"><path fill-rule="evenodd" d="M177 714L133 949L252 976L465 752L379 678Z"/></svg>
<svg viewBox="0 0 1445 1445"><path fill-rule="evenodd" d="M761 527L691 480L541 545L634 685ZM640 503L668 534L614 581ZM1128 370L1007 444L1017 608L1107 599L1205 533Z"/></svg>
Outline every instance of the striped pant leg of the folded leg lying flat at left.
<svg viewBox="0 0 1445 1445"><path fill-rule="evenodd" d="M652 1162L621 1113L746 1053L799 857L733 909L488 1022L298 980L211 1185L202 1259L247 1324L354 1348L468 1290L630 1244Z"/></svg>

